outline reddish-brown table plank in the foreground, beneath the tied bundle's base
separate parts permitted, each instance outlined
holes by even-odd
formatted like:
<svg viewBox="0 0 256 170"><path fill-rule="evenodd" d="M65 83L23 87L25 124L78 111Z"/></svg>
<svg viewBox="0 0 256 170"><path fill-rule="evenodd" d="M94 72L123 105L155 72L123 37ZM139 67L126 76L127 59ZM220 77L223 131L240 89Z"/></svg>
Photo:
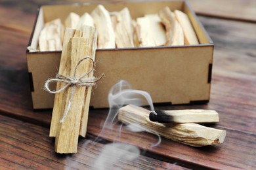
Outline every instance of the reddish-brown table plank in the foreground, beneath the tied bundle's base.
<svg viewBox="0 0 256 170"><path fill-rule="evenodd" d="M54 144L48 137L49 129L0 116L0 167L4 169L92 169L108 144L92 143L83 139L79 152L62 156L53 152ZM121 151L121 150L120 150ZM127 152L126 152L127 153ZM133 154L131 154L133 156ZM106 158L110 159L108 156ZM186 169L179 165L139 155L129 161L121 158L108 166L121 169Z"/></svg>

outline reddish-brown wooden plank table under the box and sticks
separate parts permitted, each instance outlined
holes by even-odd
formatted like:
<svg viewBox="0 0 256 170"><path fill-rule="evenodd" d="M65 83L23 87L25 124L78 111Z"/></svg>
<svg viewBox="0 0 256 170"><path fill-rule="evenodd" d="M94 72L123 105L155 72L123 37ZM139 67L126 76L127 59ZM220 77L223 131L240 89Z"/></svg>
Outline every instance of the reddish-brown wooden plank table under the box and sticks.
<svg viewBox="0 0 256 170"><path fill-rule="evenodd" d="M36 9L46 3L0 2L0 169L90 169L116 135L116 129L106 131L104 139L88 144L108 114L108 109L93 109L87 138L79 140L78 153L54 153L54 141L48 136L51 110L32 109L25 58ZM157 109L217 110L221 121L212 127L226 130L226 140L219 146L194 148L162 139L151 147L158 141L156 135L123 128L116 142L138 146L140 155L133 161L117 161L116 168L256 169L256 3L191 0L190 4L215 42L211 100L205 105Z"/></svg>

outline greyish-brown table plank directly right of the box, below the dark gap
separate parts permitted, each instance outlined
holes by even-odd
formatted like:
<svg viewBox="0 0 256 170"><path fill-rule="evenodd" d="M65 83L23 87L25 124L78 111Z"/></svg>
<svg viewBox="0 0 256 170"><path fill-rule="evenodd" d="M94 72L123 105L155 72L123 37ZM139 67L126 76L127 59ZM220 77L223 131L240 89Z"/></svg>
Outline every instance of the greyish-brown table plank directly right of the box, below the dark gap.
<svg viewBox="0 0 256 170"><path fill-rule="evenodd" d="M256 24L207 17L199 19L215 43L213 64L218 69L256 75Z"/></svg>

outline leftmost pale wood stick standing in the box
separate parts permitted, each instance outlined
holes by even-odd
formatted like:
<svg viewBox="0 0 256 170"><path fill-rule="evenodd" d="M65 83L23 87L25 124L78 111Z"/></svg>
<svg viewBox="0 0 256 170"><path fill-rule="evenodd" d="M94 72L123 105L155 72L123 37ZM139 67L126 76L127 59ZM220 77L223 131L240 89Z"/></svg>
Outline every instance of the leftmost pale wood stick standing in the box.
<svg viewBox="0 0 256 170"><path fill-rule="evenodd" d="M47 22L39 35L39 50L55 51L62 50L62 37L64 26L60 19Z"/></svg>

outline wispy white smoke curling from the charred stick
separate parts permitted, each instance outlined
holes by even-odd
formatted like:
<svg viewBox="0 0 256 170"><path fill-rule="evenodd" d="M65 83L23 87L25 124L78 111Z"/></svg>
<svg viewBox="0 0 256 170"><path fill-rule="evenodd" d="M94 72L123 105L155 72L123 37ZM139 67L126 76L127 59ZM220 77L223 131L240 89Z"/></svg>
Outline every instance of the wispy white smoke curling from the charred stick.
<svg viewBox="0 0 256 170"><path fill-rule="evenodd" d="M100 137L106 136L106 132L119 131L115 137L112 137L114 140L113 143L104 144L104 148L100 152L100 155L96 158L93 163L94 169L118 169L117 164L120 162L129 162L135 160L140 155L140 150L137 146L133 146L131 144L125 143L117 143L115 139L121 137L121 129L125 128L129 131L140 132L147 131L144 127L139 124L130 124L128 126L123 126L123 124L118 124L118 129L114 129L114 125L117 124L117 114L118 110L124 105L149 105L151 110L154 110L154 106L152 103L152 99L150 94L141 90L133 90L131 85L125 81L120 80L115 84L108 94L108 103L110 105L110 110L108 112L108 116L102 126L102 130L100 134L95 139L95 141L87 141L83 144L83 148L87 150L93 150L95 144L100 141ZM151 146L156 146L161 143L161 137L158 135L159 140L158 143L152 144ZM139 140L139 139L138 139Z"/></svg>

